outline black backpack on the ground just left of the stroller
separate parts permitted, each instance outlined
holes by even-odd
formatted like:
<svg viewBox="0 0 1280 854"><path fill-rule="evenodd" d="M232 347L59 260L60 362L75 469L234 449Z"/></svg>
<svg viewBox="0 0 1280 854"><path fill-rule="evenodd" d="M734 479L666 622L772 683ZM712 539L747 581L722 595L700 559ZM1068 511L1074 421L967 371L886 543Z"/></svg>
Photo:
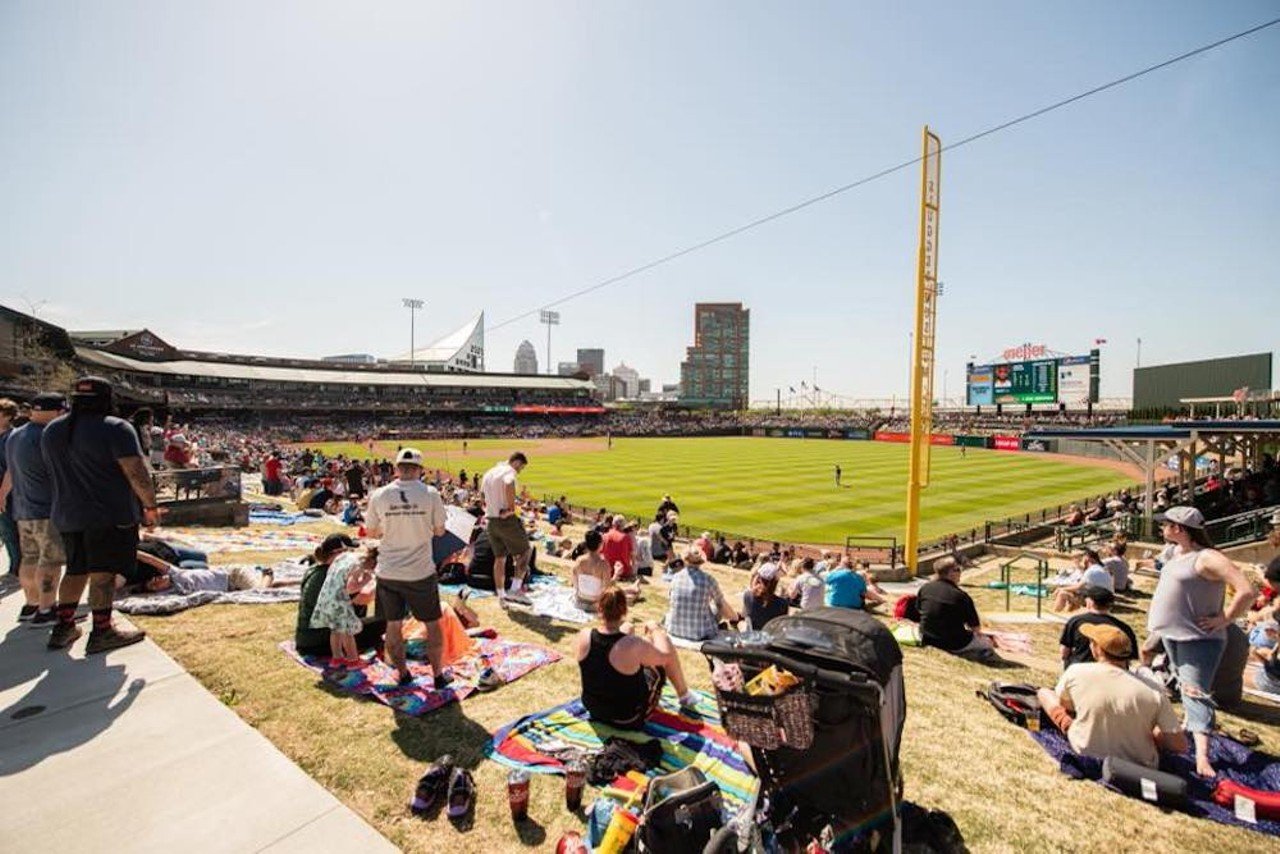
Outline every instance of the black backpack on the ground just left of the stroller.
<svg viewBox="0 0 1280 854"><path fill-rule="evenodd" d="M723 823L719 786L701 768L690 766L654 777L637 831L640 850L701 854Z"/></svg>

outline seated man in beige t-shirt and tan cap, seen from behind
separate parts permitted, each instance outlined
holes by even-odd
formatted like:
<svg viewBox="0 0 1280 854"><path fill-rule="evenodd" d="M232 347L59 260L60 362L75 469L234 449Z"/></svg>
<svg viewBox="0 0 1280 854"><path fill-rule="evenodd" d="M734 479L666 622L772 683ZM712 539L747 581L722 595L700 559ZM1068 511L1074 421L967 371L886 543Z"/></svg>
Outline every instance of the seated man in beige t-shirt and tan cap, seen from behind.
<svg viewBox="0 0 1280 854"><path fill-rule="evenodd" d="M1037 694L1071 749L1148 768L1160 766L1160 750L1187 750L1187 735L1165 691L1129 672L1134 654L1129 635L1108 624L1080 626L1080 634L1089 641L1093 661L1071 665L1056 688Z"/></svg>

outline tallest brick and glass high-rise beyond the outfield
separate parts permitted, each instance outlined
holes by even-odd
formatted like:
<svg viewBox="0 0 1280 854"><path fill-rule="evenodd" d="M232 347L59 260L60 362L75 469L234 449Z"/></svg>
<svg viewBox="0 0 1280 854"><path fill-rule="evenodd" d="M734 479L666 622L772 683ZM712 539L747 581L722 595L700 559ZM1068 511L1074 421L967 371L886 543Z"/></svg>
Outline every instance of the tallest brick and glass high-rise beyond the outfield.
<svg viewBox="0 0 1280 854"><path fill-rule="evenodd" d="M745 410L750 361L750 309L741 302L694 306L694 346L680 365L680 402Z"/></svg>

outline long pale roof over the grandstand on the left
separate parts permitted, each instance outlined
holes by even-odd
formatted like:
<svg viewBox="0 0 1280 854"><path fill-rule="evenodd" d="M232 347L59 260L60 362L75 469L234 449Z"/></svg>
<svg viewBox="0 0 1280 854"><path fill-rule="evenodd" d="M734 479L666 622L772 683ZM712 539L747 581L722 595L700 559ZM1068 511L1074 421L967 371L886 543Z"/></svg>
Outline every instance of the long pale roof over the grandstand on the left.
<svg viewBox="0 0 1280 854"><path fill-rule="evenodd" d="M207 376L215 379L243 379L268 383L328 383L333 385L415 385L435 388L539 388L573 392L590 389L588 380L572 376L512 376L504 374L428 373L428 371L372 371L340 370L330 367L278 367L273 365L243 365L234 362L207 362L189 359L155 362L129 359L105 350L77 347L76 355L90 365L108 370L137 374L164 374L169 376Z"/></svg>

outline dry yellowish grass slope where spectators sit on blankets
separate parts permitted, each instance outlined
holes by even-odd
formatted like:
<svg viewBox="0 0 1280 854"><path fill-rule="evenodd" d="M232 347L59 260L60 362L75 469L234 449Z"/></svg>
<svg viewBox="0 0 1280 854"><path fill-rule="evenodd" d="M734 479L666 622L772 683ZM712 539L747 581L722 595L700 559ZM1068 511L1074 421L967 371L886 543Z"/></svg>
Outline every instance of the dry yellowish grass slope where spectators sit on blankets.
<svg viewBox="0 0 1280 854"><path fill-rule="evenodd" d="M219 561L236 558L219 556ZM553 566L549 560L540 563ZM737 594L745 585L740 571L713 568L712 574L726 594ZM982 589L995 576L993 568L966 576L980 612L1004 609L1002 594ZM481 748L498 726L577 694L577 667L568 645L575 627L516 611L504 613L492 598L474 606L483 622L503 636L552 645L566 659L422 718L330 693L280 653L276 643L293 631L292 606L206 606L136 622L210 691L404 850L547 850L564 830L582 828L581 819L564 810L561 778L534 777L534 821L517 832L507 812L506 771L484 761ZM659 618L664 608L664 589L654 584L645 588L635 613ZM1029 599L1015 603L1015 609L1032 608ZM1120 616L1142 634L1140 609ZM992 679L1056 680L1060 626L1010 627L1033 636L1034 654L1018 668L997 671L937 650L905 650L902 772L909 800L948 812L978 851L1133 850L1138 839L1146 850L1275 850L1275 840L1268 844L1262 835L1164 813L1060 775L1025 732L974 697ZM681 657L694 686L708 689L704 659L684 650ZM1262 735L1265 750L1280 750L1280 709L1251 705L1247 712L1252 722L1231 714L1222 720L1230 726L1247 723ZM477 809L465 830L443 817L420 821L406 808L426 763L447 750L475 769ZM586 803L593 796L588 793Z"/></svg>

